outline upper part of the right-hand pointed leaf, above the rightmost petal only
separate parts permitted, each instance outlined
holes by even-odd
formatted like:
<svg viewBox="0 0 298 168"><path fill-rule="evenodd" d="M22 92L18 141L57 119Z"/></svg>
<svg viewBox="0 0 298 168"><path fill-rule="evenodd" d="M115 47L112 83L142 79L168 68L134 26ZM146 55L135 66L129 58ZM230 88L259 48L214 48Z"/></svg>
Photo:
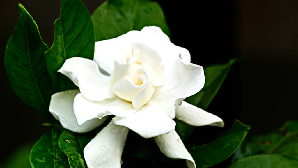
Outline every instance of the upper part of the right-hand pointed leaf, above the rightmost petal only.
<svg viewBox="0 0 298 168"><path fill-rule="evenodd" d="M235 62L237 62L237 59L231 59L228 63L223 65L211 65L205 67L204 87L193 96L187 97L185 101L206 110Z"/></svg>

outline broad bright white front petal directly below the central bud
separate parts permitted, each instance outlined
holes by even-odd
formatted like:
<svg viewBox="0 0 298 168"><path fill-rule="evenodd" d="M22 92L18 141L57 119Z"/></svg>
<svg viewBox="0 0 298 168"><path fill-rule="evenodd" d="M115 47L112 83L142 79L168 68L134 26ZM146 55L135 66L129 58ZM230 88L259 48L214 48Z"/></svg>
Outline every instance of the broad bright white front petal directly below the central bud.
<svg viewBox="0 0 298 168"><path fill-rule="evenodd" d="M133 115L125 118L114 117L113 121L116 125L128 127L143 138L167 134L176 126L176 123L156 105L145 105Z"/></svg>

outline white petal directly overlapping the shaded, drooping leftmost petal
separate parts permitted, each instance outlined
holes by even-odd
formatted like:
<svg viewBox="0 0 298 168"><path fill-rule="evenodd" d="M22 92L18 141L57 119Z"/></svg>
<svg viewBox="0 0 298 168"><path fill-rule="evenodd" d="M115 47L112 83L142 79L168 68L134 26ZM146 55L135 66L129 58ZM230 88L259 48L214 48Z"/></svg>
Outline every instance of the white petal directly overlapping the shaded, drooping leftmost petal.
<svg viewBox="0 0 298 168"><path fill-rule="evenodd" d="M87 100L80 93L75 97L73 109L79 125L93 118L102 118L112 114L119 117L127 117L136 111L131 103L119 97L95 102Z"/></svg>

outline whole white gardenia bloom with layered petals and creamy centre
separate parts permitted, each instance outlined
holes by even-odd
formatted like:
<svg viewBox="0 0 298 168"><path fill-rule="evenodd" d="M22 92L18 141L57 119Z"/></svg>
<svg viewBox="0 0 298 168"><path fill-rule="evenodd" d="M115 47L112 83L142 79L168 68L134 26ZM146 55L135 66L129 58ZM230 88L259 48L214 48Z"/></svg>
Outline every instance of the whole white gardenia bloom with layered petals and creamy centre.
<svg viewBox="0 0 298 168"><path fill-rule="evenodd" d="M203 88L204 70L156 26L96 42L94 61L70 58L58 72L80 88L52 95L49 111L64 128L88 132L115 115L84 148L89 168L121 167L129 129L153 138L167 157L186 159L195 168L172 119L224 126L219 117L183 101Z"/></svg>

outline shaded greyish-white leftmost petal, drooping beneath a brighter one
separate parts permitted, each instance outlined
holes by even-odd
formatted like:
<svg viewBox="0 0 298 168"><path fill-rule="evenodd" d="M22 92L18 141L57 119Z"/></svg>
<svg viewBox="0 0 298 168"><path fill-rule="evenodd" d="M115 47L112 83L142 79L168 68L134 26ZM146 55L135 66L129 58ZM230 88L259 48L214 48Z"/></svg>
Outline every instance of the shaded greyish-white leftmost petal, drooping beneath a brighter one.
<svg viewBox="0 0 298 168"><path fill-rule="evenodd" d="M78 93L80 93L79 90L68 90L53 94L51 97L49 111L57 120L60 121L63 128L69 129L73 132L83 133L97 128L105 122L108 117L104 117L102 119L95 118L79 126L73 111L74 99Z"/></svg>

